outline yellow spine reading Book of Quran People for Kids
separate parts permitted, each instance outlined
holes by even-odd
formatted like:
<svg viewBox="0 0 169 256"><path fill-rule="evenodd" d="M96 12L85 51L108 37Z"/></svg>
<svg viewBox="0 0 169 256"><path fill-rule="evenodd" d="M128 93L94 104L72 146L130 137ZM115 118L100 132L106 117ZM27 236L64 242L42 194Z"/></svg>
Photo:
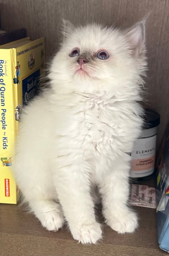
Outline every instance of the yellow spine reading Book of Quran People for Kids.
<svg viewBox="0 0 169 256"><path fill-rule="evenodd" d="M16 183L11 171L15 141L14 52L0 49L0 203L16 204Z"/></svg>

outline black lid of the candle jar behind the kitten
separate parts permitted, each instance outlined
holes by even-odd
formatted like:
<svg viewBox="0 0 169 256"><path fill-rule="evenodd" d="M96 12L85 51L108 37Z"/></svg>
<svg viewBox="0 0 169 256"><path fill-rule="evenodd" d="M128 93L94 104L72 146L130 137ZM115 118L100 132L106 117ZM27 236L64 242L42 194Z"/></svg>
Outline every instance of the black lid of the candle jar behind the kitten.
<svg viewBox="0 0 169 256"><path fill-rule="evenodd" d="M154 110L145 108L144 129L156 127L160 123L160 114Z"/></svg>

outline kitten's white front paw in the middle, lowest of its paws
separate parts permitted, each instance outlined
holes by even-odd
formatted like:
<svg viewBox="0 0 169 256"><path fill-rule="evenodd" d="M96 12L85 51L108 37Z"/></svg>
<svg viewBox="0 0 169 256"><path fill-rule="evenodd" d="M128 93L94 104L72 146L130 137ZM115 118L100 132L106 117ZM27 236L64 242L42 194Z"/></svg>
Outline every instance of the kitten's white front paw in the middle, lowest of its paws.
<svg viewBox="0 0 169 256"><path fill-rule="evenodd" d="M101 236L100 224L95 222L93 224L83 224L78 230L71 230L73 238L82 244L95 244Z"/></svg>

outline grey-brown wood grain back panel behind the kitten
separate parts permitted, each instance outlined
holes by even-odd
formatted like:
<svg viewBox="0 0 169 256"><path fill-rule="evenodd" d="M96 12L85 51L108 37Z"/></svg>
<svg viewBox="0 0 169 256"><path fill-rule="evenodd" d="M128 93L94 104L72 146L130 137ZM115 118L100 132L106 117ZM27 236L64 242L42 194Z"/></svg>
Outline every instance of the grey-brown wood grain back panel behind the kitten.
<svg viewBox="0 0 169 256"><path fill-rule="evenodd" d="M144 105L161 114L158 144L169 120L169 0L0 0L2 26L26 27L32 39L46 38L47 60L62 40L61 19L128 27L150 13L147 23L149 71Z"/></svg>

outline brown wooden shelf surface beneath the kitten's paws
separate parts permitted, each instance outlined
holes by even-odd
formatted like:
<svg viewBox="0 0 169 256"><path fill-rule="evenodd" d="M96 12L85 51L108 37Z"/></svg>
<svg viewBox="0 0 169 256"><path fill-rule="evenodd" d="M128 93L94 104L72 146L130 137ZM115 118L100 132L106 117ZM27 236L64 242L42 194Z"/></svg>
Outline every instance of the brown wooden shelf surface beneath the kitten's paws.
<svg viewBox="0 0 169 256"><path fill-rule="evenodd" d="M134 208L139 214L135 233L119 235L103 224L103 239L96 245L82 245L67 227L46 231L19 206L0 204L0 255L169 255L158 246L155 209Z"/></svg>

